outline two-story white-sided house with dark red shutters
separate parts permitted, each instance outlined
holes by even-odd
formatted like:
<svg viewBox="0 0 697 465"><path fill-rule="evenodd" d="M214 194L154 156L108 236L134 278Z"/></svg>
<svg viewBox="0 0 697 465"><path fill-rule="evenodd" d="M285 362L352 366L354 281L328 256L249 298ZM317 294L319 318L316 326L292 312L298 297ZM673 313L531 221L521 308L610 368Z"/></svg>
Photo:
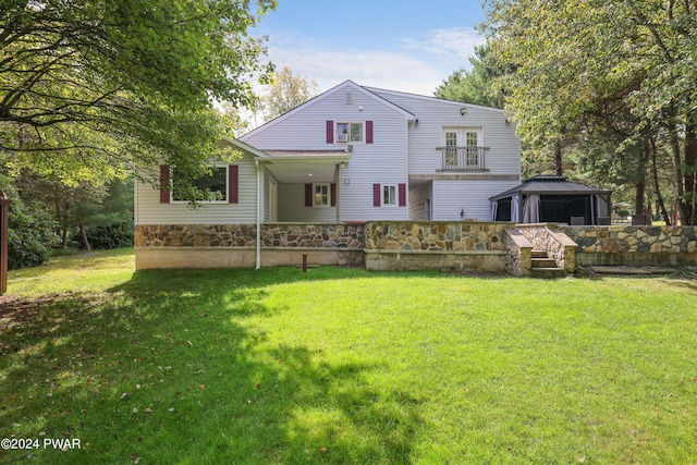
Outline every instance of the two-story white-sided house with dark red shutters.
<svg viewBox="0 0 697 465"><path fill-rule="evenodd" d="M223 144L242 157L201 180L216 194L201 209L136 186L136 234L138 225L491 221L489 197L521 180L519 139L501 110L351 81ZM171 175L161 167L164 183Z"/></svg>

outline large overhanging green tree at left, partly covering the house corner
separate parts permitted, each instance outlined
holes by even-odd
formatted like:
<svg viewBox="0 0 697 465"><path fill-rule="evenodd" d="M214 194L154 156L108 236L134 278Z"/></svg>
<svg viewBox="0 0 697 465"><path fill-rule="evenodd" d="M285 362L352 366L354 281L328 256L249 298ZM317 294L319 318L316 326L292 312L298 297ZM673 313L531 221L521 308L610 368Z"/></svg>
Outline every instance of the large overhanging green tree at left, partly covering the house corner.
<svg viewBox="0 0 697 465"><path fill-rule="evenodd" d="M227 134L213 100L255 102L274 0L0 0L0 152L68 182L161 163L193 174Z"/></svg>

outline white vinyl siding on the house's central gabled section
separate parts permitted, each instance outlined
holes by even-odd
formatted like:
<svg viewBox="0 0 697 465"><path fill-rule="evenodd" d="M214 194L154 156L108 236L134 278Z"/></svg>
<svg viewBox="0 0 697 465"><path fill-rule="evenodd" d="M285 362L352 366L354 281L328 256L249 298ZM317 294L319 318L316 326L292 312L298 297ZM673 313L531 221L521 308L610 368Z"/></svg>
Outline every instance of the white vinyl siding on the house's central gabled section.
<svg viewBox="0 0 697 465"><path fill-rule="evenodd" d="M346 103L347 91L352 94L351 103ZM408 182L407 119L403 111L348 83L291 113L242 136L241 139L260 150L341 150L346 149L347 145L335 142L327 144L327 121L333 122L334 140L338 122L363 122L364 143L352 146L348 167L340 172L341 219L365 221L408 218L404 207L372 206L374 184L399 185ZM365 143L366 121L372 121L372 144ZM286 197L289 195L299 197L291 201ZM337 220L334 208L315 208L314 210L327 210L328 213L317 213L319 219L315 220L303 206L303 185L279 184L279 221ZM297 211L289 211L291 207Z"/></svg>

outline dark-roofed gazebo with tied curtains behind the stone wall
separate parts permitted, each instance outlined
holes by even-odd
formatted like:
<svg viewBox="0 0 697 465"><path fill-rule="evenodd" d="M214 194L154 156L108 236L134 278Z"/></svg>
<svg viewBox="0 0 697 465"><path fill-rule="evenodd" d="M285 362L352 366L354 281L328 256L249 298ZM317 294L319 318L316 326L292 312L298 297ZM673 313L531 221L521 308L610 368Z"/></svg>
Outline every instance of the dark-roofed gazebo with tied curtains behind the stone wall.
<svg viewBox="0 0 697 465"><path fill-rule="evenodd" d="M491 219L516 223L610 224L612 191L538 175L489 197Z"/></svg>

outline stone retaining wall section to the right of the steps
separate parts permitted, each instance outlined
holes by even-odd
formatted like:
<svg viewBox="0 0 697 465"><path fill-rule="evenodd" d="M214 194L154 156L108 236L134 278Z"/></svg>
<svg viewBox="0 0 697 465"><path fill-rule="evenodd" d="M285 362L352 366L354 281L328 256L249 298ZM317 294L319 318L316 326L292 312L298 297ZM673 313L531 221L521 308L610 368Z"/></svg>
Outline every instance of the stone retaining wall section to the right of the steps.
<svg viewBox="0 0 697 465"><path fill-rule="evenodd" d="M697 264L697 227L560 227L577 244L579 265Z"/></svg>

